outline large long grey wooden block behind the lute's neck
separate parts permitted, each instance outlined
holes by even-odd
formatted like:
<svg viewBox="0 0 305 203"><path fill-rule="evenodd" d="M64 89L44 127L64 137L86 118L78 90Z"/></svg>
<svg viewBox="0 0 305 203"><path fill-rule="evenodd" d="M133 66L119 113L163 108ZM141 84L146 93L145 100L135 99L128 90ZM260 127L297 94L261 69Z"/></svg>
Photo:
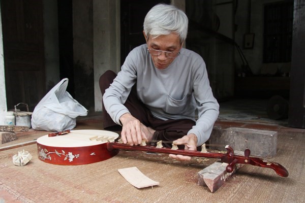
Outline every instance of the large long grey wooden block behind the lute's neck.
<svg viewBox="0 0 305 203"><path fill-rule="evenodd" d="M250 149L251 155L271 158L277 153L278 132L240 127L221 129L214 127L209 139L209 144L229 145L237 151ZM222 150L222 147L210 147Z"/></svg>

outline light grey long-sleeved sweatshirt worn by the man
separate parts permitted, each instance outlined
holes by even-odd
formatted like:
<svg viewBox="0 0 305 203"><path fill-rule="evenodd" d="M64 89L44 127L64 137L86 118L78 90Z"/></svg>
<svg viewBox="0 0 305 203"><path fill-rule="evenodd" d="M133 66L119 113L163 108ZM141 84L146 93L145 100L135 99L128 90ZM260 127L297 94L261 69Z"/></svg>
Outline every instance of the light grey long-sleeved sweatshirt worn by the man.
<svg viewBox="0 0 305 203"><path fill-rule="evenodd" d="M159 70L146 44L133 49L103 95L105 109L117 124L120 124L121 115L129 113L123 104L135 83L138 98L156 118L194 120L196 125L188 134L196 134L197 146L209 139L218 118L219 104L212 94L205 63L200 55L182 48L180 55L166 69Z"/></svg>

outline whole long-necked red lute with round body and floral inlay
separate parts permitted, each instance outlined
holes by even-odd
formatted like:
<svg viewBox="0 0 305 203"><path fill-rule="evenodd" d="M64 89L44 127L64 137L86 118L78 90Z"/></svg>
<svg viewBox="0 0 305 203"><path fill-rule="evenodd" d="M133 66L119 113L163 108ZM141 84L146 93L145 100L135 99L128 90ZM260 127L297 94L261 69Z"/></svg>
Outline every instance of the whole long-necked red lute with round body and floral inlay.
<svg viewBox="0 0 305 203"><path fill-rule="evenodd" d="M259 157L250 157L250 150L245 150L245 156L235 155L230 146L226 146L226 153L200 152L184 149L163 148L155 146L130 146L114 142L118 134L106 130L66 130L50 133L37 140L38 156L47 163L60 165L79 165L106 160L115 156L118 150L136 150L145 152L181 154L186 156L217 158L228 163L226 171L232 173L237 163L267 167L279 176L288 177L286 168L276 162Z"/></svg>

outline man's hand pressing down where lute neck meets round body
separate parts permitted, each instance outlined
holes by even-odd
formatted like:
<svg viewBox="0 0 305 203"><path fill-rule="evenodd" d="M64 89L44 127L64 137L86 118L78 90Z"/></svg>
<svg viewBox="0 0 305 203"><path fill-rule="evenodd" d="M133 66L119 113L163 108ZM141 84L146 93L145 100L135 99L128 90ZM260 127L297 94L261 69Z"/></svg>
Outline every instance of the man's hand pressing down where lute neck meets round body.
<svg viewBox="0 0 305 203"><path fill-rule="evenodd" d="M124 144L138 145L142 140L151 140L153 137L154 130L143 125L130 113L123 114L119 120L123 125L121 139Z"/></svg>

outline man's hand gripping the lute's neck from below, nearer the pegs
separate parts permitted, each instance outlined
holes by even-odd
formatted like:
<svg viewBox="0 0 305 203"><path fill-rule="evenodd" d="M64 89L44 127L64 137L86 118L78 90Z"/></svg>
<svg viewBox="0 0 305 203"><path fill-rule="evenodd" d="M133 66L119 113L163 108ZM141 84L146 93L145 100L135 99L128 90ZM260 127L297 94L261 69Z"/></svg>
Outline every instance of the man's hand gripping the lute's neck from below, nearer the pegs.
<svg viewBox="0 0 305 203"><path fill-rule="evenodd" d="M187 150L197 150L197 136L195 134L188 134L187 136L184 136L178 140L173 141L175 145L185 145L185 149ZM190 161L191 156L184 156L184 155L174 155L170 154L169 157L177 159L179 161Z"/></svg>

